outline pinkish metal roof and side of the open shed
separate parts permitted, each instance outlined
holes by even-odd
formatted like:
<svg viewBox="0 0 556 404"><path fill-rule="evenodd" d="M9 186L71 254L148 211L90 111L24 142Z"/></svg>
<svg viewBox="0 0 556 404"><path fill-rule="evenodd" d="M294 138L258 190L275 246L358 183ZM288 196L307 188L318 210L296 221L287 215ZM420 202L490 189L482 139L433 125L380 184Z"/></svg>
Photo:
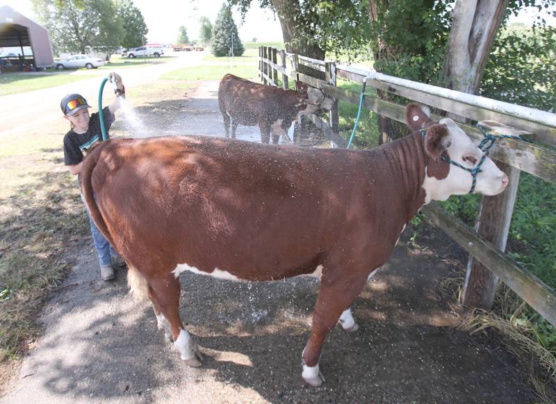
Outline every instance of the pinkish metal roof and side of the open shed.
<svg viewBox="0 0 556 404"><path fill-rule="evenodd" d="M54 62L48 31L10 6L0 6L0 47L31 47L37 67Z"/></svg>

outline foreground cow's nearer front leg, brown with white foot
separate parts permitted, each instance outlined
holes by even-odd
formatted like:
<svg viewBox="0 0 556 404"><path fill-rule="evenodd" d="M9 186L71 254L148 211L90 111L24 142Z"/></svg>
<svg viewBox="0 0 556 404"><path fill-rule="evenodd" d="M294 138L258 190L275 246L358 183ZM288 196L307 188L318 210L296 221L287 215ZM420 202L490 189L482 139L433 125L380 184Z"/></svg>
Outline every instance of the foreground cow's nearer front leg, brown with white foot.
<svg viewBox="0 0 556 404"><path fill-rule="evenodd" d="M365 278L332 281L327 279L325 273L322 275L320 291L313 312L311 337L302 353L302 378L309 385L318 387L325 381L318 366L322 343L340 319L341 314L349 310L364 285Z"/></svg>

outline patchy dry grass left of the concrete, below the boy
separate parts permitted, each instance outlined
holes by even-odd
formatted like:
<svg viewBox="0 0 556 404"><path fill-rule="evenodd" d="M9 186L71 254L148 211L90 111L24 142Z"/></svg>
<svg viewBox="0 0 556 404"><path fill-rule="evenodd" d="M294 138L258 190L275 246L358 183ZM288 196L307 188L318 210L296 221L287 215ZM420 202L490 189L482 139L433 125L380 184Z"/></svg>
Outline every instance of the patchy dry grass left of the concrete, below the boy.
<svg viewBox="0 0 556 404"><path fill-rule="evenodd" d="M72 180L44 160L42 170L1 200L0 349L8 357L24 353L38 336L42 303L74 264L65 256L67 244L88 232Z"/></svg>

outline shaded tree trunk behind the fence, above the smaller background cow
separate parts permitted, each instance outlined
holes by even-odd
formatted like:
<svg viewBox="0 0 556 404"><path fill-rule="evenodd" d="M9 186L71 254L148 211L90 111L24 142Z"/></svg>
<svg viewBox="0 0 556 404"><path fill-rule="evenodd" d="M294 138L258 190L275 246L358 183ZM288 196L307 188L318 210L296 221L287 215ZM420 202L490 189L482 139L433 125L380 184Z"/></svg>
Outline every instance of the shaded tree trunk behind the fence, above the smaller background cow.
<svg viewBox="0 0 556 404"><path fill-rule="evenodd" d="M295 21L295 17L302 15L299 1L272 0L272 6L280 20L286 51L289 53L299 53L309 58L325 60L325 51L316 44L304 39L310 34L310 32L307 32L309 28L300 24L299 19L297 22Z"/></svg>

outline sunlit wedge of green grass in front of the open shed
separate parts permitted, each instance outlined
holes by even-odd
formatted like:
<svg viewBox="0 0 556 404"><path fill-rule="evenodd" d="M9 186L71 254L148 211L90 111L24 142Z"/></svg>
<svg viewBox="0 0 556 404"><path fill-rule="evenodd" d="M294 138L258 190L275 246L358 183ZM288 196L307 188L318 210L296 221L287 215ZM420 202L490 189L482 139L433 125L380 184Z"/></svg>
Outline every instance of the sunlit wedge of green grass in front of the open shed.
<svg viewBox="0 0 556 404"><path fill-rule="evenodd" d="M95 77L95 75L67 74L61 71L56 74L2 74L0 76L0 96L42 90L43 88L74 83L91 77Z"/></svg>

